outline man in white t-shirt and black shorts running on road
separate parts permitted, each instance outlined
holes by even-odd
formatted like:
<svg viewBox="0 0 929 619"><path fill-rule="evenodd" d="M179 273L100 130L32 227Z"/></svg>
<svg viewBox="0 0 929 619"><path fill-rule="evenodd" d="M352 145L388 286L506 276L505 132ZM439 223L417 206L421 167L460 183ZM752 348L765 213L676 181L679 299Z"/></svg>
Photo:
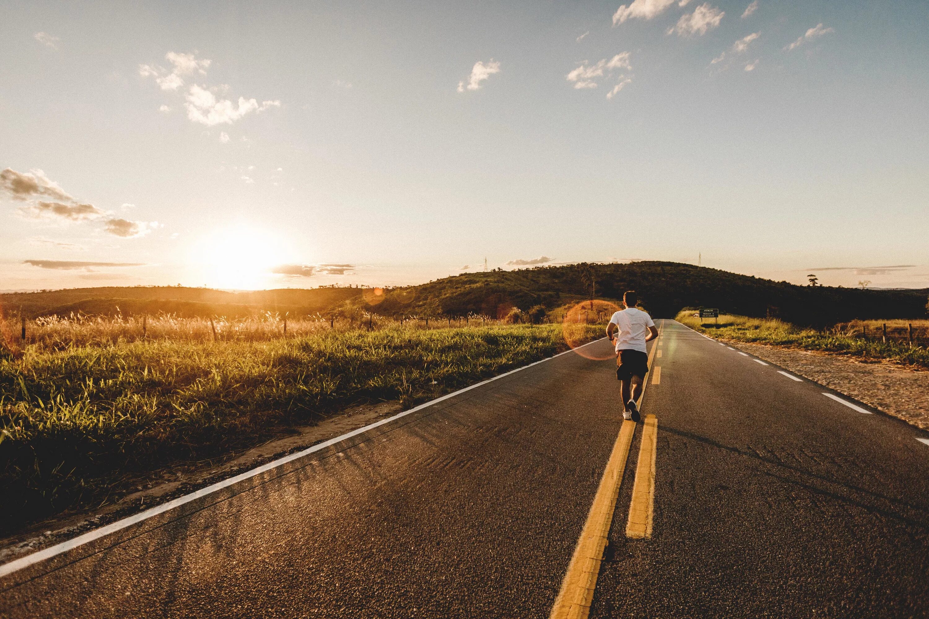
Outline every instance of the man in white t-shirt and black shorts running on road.
<svg viewBox="0 0 929 619"><path fill-rule="evenodd" d="M625 309L613 314L607 325L607 337L616 345L616 378L622 381L622 419L641 419L635 400L642 395L642 383L648 374L648 354L645 342L658 337L651 316L635 307L635 290L622 295ZM619 333L617 334L617 331Z"/></svg>

